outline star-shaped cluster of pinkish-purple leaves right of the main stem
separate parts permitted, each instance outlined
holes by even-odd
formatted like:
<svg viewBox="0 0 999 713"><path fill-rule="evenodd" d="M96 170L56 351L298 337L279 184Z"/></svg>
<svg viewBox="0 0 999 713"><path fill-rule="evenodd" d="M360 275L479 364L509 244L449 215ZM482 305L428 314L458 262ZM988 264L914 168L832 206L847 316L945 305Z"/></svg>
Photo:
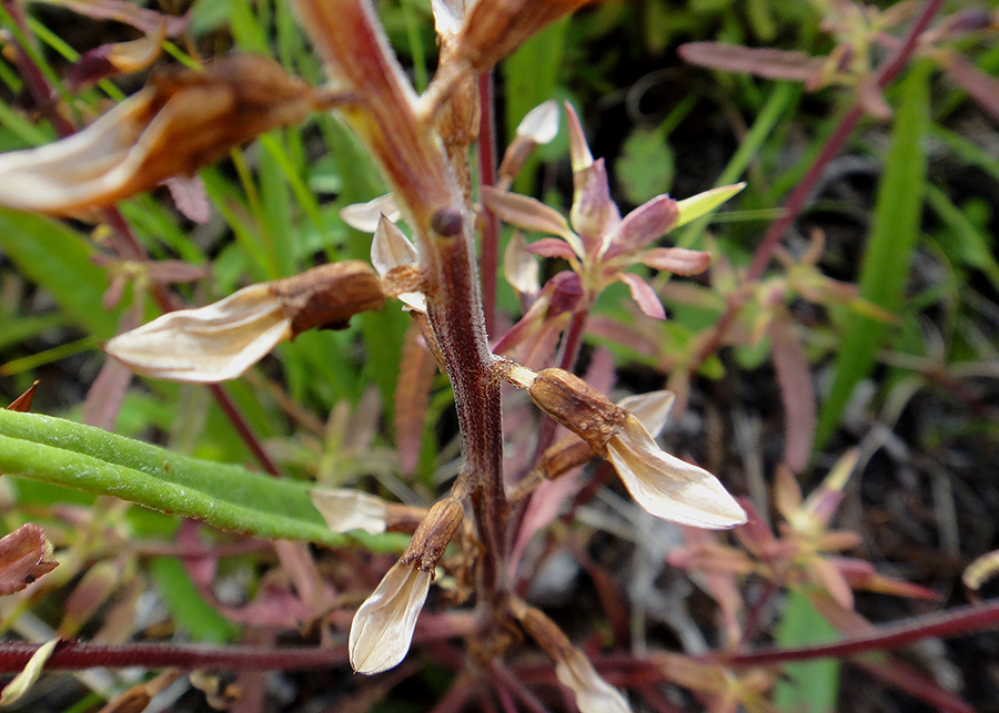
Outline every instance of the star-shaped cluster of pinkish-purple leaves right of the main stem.
<svg viewBox="0 0 999 713"><path fill-rule="evenodd" d="M716 208L743 184L707 191L685 201L659 195L622 217L610 200L604 160L594 161L575 111L569 104L566 111L574 182L569 221L535 198L488 186L482 190L483 203L512 225L557 236L536 241L528 249L567 261L585 302L592 304L608 284L619 281L628 286L643 313L664 319L666 313L655 291L645 279L626 271L638 263L677 275L696 275L707 269L710 255L706 252L653 245L675 227Z"/></svg>

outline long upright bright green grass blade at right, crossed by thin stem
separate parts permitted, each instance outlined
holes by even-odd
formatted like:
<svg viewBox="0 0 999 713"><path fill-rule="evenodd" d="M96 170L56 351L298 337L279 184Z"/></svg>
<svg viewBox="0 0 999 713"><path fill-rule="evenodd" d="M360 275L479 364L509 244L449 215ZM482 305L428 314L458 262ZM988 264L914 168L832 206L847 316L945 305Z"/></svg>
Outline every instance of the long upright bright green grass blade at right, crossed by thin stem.
<svg viewBox="0 0 999 713"><path fill-rule="evenodd" d="M870 237L860 266L860 295L891 313L902 306L922 217L930 72L930 65L920 62L901 86ZM887 336L888 325L884 322L860 316L849 320L837 353L833 386L819 414L816 449L821 449L836 429L854 388L870 374L877 350Z"/></svg>

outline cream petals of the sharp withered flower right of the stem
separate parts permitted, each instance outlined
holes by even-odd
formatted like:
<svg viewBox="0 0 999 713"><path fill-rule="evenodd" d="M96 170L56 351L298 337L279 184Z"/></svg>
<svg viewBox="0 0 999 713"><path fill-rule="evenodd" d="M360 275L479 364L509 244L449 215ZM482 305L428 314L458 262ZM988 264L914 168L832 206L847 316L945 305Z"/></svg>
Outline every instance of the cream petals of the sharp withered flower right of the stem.
<svg viewBox="0 0 999 713"><path fill-rule="evenodd" d="M657 518L713 529L746 521L717 478L663 451L633 416L607 444L607 458L635 501Z"/></svg>

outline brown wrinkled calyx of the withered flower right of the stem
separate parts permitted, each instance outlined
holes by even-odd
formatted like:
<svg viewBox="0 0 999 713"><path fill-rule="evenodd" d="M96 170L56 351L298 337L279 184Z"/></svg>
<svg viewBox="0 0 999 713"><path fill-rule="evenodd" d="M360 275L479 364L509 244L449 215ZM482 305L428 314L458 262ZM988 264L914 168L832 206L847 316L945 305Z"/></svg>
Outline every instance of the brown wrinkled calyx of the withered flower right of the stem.
<svg viewBox="0 0 999 713"><path fill-rule="evenodd" d="M628 412L565 369L544 369L527 389L531 399L553 419L603 455L624 428Z"/></svg>

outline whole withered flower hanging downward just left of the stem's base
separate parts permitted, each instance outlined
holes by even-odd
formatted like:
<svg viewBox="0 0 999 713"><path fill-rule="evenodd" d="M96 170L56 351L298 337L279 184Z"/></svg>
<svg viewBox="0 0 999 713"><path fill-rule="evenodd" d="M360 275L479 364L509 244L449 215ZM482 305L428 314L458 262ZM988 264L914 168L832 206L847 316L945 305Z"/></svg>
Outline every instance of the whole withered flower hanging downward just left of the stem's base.
<svg viewBox="0 0 999 713"><path fill-rule="evenodd" d="M457 499L447 497L434 503L398 562L357 609L349 641L354 671L380 673L405 658L434 568L462 519Z"/></svg>

